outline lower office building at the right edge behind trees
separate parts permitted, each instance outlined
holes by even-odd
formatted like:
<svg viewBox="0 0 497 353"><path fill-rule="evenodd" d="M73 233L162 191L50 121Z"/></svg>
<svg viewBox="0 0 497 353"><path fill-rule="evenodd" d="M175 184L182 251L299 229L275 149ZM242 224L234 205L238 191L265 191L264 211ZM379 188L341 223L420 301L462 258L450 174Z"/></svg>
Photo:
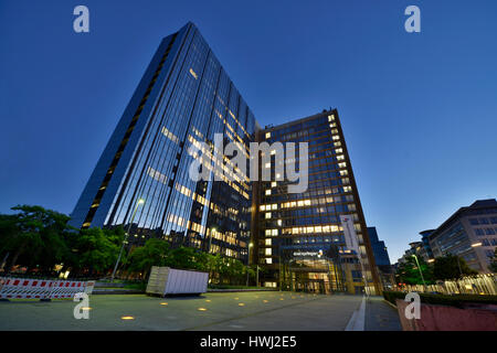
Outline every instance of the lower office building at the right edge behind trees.
<svg viewBox="0 0 497 353"><path fill-rule="evenodd" d="M480 274L488 274L490 258L497 246L497 201L478 200L461 207L427 236L436 258L457 255Z"/></svg>

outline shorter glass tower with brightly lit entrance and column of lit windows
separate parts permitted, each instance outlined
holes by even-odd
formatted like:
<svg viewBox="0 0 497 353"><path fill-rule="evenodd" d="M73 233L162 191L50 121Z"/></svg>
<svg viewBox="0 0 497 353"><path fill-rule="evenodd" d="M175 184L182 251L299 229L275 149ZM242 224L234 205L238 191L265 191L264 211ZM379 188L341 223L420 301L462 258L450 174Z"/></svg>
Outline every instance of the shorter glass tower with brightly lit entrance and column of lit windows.
<svg viewBox="0 0 497 353"><path fill-rule="evenodd" d="M258 139L308 142L309 180L304 193L288 193L288 182L258 183L254 260L267 268L266 287L319 292L380 292L373 253L353 178L338 111L266 127ZM266 165L261 165L265 168ZM340 215L350 215L360 254L346 248ZM359 264L361 257L362 265ZM362 269L364 272L362 272Z"/></svg>

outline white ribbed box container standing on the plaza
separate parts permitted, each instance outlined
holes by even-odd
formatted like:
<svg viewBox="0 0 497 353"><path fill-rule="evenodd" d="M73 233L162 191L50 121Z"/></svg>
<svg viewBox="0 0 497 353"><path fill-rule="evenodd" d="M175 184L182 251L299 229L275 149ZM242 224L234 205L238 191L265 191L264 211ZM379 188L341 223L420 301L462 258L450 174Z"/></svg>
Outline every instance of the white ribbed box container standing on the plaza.
<svg viewBox="0 0 497 353"><path fill-rule="evenodd" d="M148 295L200 295L207 292L209 274L152 266L146 292Z"/></svg>

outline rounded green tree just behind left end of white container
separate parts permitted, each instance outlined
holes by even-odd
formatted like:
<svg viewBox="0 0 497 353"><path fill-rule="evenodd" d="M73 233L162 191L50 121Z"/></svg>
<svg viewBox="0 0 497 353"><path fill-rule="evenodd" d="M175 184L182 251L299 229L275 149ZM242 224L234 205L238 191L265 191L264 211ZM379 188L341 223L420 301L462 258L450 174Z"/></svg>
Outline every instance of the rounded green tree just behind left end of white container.
<svg viewBox="0 0 497 353"><path fill-rule="evenodd" d="M128 270L141 272L142 278L146 278L152 266L168 266L169 256L169 243L150 238L144 246L133 250L127 260Z"/></svg>

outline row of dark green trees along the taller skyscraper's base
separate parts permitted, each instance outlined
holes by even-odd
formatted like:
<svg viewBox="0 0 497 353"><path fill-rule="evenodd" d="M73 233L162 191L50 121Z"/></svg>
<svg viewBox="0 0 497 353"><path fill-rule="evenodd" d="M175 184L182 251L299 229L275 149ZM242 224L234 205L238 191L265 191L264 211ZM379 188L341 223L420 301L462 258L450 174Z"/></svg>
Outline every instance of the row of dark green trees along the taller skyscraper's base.
<svg viewBox="0 0 497 353"><path fill-rule="evenodd" d="M106 276L117 260L124 242L123 228L76 229L67 225L68 216L42 206L19 205L15 214L0 214L0 260L55 276L70 270L72 276ZM0 264L1 265L1 264ZM255 268L239 259L212 255L192 247L171 249L162 239L148 239L121 259L128 274L146 278L152 266L208 271L213 282L239 285L255 277Z"/></svg>

